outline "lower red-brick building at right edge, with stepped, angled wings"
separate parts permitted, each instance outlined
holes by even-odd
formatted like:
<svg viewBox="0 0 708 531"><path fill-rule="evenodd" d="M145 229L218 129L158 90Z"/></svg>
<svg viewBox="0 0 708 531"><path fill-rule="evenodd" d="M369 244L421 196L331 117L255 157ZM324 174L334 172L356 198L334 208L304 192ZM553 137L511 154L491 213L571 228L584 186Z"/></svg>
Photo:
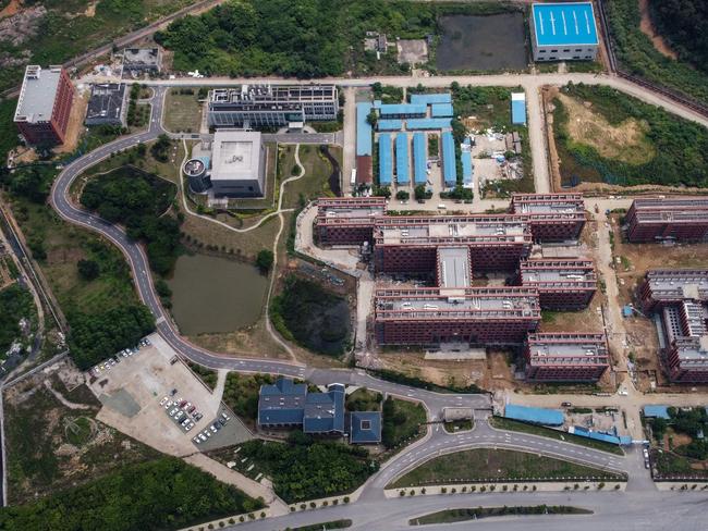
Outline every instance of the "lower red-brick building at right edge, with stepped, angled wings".
<svg viewBox="0 0 708 531"><path fill-rule="evenodd" d="M649 271L639 297L661 318L671 381L708 383L708 270Z"/></svg>

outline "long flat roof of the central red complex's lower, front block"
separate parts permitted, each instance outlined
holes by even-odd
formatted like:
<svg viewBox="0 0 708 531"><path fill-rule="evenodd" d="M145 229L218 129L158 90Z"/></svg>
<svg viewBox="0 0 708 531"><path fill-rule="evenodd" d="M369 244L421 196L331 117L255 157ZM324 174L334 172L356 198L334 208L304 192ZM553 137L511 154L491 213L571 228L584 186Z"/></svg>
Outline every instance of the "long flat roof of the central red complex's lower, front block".
<svg viewBox="0 0 708 531"><path fill-rule="evenodd" d="M376 309L411 319L540 316L537 292L518 287L378 289Z"/></svg>

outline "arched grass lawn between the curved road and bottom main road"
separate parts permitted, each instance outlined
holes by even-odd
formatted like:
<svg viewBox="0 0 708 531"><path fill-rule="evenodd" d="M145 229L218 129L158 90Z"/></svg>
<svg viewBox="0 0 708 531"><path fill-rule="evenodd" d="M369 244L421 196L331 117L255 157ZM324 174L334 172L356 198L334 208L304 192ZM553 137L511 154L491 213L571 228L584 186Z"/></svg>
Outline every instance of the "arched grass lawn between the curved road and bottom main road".
<svg viewBox="0 0 708 531"><path fill-rule="evenodd" d="M448 454L410 471L389 485L400 489L471 481L623 480L619 474L538 454L479 448Z"/></svg>

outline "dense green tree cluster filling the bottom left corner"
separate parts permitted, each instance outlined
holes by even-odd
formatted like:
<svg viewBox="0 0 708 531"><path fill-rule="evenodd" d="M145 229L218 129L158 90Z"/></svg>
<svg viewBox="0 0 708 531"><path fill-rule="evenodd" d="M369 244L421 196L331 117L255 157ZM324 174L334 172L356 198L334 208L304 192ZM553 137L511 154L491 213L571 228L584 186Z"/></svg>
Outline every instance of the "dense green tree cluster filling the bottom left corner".
<svg viewBox="0 0 708 531"><path fill-rule="evenodd" d="M173 457L131 465L37 502L0 509L0 528L53 531L178 529L263 507Z"/></svg>

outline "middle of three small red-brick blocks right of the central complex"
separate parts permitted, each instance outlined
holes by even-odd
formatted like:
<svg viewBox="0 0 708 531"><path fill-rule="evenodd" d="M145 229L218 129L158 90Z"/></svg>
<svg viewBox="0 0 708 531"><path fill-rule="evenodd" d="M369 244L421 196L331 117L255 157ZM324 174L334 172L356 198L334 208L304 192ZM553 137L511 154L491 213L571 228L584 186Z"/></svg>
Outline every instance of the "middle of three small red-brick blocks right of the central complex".
<svg viewBox="0 0 708 531"><path fill-rule="evenodd" d="M581 310L597 291L590 260L523 260L518 284L538 289L545 310Z"/></svg>

